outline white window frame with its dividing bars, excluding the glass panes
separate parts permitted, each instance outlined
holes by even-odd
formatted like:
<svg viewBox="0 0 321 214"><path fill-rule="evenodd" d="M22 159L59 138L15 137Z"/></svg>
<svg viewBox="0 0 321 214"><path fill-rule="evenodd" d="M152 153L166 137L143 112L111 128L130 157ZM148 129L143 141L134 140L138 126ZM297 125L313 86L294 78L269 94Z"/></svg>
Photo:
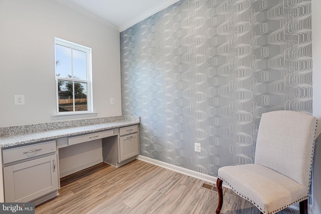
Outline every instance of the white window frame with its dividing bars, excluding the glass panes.
<svg viewBox="0 0 321 214"><path fill-rule="evenodd" d="M87 80L68 78L68 77L59 77L59 76L56 75L57 74L57 71L56 71L56 68L57 68L56 67L56 44L86 53ZM57 108L57 116L93 113L91 56L92 56L91 48L88 48L88 47L85 47L85 46L82 46L82 45L79 45L79 44L76 44L76 43L73 43L73 42L69 42L67 40L63 40L63 39L55 37L55 78L56 78L56 104L57 104L56 108ZM73 62L73 60L71 60L71 62ZM73 66L71 66L71 68L72 68L72 75L73 75ZM72 81L73 85L74 85L74 82L81 82L81 83L86 83L87 84L87 111L75 111L75 93L73 93L74 111L59 112L58 80ZM73 91L74 91L74 87L73 87Z"/></svg>

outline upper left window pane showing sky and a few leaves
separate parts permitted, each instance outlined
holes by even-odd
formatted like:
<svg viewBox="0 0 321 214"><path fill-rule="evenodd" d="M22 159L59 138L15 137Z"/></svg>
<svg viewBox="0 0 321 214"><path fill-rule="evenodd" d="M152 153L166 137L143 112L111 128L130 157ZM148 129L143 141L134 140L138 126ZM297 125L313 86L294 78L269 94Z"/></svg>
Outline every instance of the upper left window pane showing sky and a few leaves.
<svg viewBox="0 0 321 214"><path fill-rule="evenodd" d="M71 50L56 44L56 76L71 77Z"/></svg>

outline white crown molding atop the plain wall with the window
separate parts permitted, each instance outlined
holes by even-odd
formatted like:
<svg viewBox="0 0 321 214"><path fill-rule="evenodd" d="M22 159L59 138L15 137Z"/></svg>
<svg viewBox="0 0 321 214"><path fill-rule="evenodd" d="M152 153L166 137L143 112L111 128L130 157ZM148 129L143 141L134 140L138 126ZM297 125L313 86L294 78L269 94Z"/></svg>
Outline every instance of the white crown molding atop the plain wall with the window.
<svg viewBox="0 0 321 214"><path fill-rule="evenodd" d="M74 3L72 3L72 2L70 2L68 0L55 0L55 1L58 2L61 5L64 5L64 6L68 7L68 8L70 8L70 9L74 10L74 11L77 11L77 12L79 12L81 14L84 14L87 17L90 17L94 21L99 22L100 24L102 24L102 25L104 25L106 27L109 27L109 28L112 28L114 30L119 31L118 26L115 26L115 25L111 24L110 22L102 19L99 16L96 16L96 15L90 13L89 11L87 11L87 10L77 6L77 5L75 5Z"/></svg>

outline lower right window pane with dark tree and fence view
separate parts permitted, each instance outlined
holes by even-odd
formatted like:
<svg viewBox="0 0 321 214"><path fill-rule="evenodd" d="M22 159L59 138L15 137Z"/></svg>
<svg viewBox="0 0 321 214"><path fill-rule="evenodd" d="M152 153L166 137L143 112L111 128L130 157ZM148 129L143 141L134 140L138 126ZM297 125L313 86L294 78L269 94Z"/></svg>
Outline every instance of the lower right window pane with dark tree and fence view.
<svg viewBox="0 0 321 214"><path fill-rule="evenodd" d="M75 82L75 111L87 110L87 83Z"/></svg>

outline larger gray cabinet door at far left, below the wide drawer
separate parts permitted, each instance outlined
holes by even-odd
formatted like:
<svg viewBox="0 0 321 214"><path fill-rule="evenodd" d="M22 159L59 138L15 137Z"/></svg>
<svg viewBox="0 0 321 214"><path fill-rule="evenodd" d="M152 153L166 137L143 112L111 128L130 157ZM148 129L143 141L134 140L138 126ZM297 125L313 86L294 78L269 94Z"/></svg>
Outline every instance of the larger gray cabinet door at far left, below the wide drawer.
<svg viewBox="0 0 321 214"><path fill-rule="evenodd" d="M58 189L56 154L4 167L6 202L29 202Z"/></svg>

